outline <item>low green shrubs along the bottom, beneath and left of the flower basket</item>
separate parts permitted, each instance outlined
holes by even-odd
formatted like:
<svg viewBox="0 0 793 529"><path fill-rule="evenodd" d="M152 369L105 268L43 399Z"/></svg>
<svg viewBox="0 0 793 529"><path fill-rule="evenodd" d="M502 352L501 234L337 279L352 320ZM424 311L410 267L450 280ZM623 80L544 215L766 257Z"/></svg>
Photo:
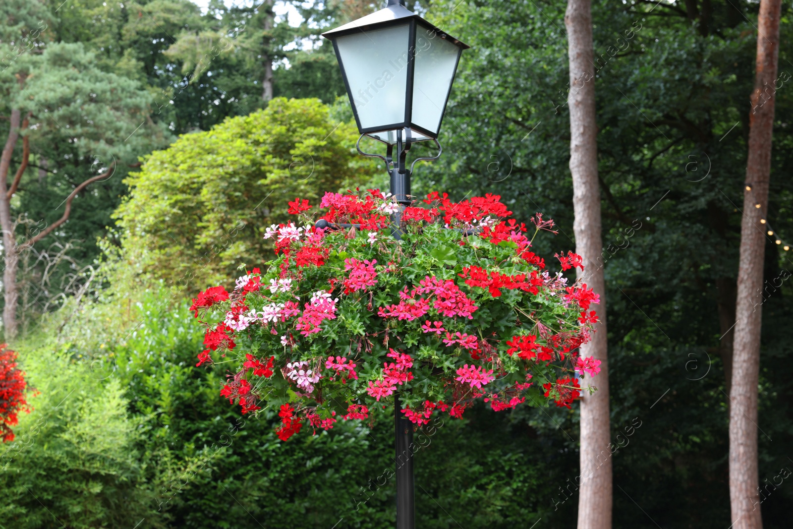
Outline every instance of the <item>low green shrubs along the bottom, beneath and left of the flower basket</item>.
<svg viewBox="0 0 793 529"><path fill-rule="evenodd" d="M127 296L139 301L91 305L79 320L65 307L26 348L40 395L0 447L12 493L0 523L61 527L49 510L67 527L393 527L392 419L282 443L274 413L240 416L220 397L224 365L194 366L202 332L186 305L170 309L161 290ZM559 447L488 409L470 413L416 432L417 522L506 528L546 516L563 481Z"/></svg>

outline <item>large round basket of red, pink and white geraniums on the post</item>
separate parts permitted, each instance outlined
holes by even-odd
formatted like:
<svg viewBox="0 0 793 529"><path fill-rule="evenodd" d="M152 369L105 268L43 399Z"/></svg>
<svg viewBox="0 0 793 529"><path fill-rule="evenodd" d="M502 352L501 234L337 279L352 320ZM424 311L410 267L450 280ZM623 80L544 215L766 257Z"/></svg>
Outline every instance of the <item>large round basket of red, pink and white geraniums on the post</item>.
<svg viewBox="0 0 793 529"><path fill-rule="evenodd" d="M532 217L530 240L499 196L453 202L435 192L401 212L397 240L389 216L400 205L379 190L325 194L327 228L311 209L289 202L303 222L266 228L276 252L266 270L231 292L209 288L190 307L223 318L204 322L197 366L231 363L220 394L243 413L278 408L281 439L306 421L316 431L367 420L395 393L419 425L434 412L462 417L479 398L496 411L569 408L579 379L600 371L577 354L598 295L531 251L553 220ZM584 268L579 255L556 256L562 270Z"/></svg>

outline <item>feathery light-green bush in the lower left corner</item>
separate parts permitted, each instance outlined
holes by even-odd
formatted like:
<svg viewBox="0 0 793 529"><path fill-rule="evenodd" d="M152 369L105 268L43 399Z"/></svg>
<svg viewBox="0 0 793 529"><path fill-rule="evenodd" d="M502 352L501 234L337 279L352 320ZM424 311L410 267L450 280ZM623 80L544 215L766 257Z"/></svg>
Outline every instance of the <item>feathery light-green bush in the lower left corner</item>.
<svg viewBox="0 0 793 529"><path fill-rule="evenodd" d="M148 516L141 422L121 383L49 347L21 363L36 394L17 439L0 446L0 527L121 527Z"/></svg>

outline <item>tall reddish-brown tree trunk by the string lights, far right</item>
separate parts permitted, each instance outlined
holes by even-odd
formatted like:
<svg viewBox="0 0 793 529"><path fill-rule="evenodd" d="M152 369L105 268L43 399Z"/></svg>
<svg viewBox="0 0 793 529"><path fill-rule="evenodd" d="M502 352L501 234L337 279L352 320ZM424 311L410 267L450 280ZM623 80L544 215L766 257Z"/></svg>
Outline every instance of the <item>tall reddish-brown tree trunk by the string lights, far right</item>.
<svg viewBox="0 0 793 529"><path fill-rule="evenodd" d="M763 289L768 174L774 125L774 81L780 40L780 0L760 0L757 65L749 112L741 255L738 264L730 389L730 508L734 529L760 529L757 490L757 383L760 371L760 324ZM760 207L757 207L759 205ZM759 293L759 295L758 295Z"/></svg>

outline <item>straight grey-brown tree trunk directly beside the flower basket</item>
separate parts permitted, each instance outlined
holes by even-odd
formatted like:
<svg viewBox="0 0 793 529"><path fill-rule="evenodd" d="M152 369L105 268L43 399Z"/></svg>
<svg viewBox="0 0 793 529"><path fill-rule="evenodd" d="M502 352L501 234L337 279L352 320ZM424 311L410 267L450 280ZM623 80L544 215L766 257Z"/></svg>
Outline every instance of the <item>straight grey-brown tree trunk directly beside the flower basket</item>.
<svg viewBox="0 0 793 529"><path fill-rule="evenodd" d="M595 75L593 71L592 13L590 0L568 0L565 13L570 63L570 173L573 174L573 209L576 252L585 269L579 276L600 294L596 311L600 324L580 355L600 359L601 371L593 379L597 391L584 392L580 421L580 489L578 529L611 529L611 432L609 429L606 291L600 234L600 189L597 167Z"/></svg>

